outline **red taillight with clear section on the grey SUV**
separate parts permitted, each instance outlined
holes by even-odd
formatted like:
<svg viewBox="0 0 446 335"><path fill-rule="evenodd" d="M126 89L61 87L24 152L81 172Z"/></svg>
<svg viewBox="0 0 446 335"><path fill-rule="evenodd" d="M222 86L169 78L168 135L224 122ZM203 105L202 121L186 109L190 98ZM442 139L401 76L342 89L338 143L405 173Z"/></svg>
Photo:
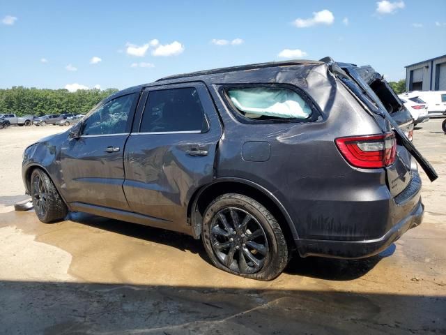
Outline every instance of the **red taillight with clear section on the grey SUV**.
<svg viewBox="0 0 446 335"><path fill-rule="evenodd" d="M397 140L394 133L339 137L335 142L346 161L356 168L384 168L395 161Z"/></svg>

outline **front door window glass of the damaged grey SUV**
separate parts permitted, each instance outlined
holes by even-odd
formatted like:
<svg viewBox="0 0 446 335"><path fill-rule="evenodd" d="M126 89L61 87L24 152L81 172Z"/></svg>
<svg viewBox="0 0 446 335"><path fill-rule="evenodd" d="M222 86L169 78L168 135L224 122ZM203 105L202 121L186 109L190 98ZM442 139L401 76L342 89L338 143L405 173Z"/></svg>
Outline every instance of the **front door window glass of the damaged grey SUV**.
<svg viewBox="0 0 446 335"><path fill-rule="evenodd" d="M125 133L134 97L135 94L121 96L90 112L82 126L82 135Z"/></svg>

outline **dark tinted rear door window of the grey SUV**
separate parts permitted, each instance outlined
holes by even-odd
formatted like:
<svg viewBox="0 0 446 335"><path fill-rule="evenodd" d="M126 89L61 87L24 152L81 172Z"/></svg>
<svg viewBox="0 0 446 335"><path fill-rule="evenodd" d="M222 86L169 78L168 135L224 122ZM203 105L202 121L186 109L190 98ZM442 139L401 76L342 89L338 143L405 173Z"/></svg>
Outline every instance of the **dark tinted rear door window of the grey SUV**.
<svg viewBox="0 0 446 335"><path fill-rule="evenodd" d="M197 89L151 91L141 120L141 133L207 131Z"/></svg>

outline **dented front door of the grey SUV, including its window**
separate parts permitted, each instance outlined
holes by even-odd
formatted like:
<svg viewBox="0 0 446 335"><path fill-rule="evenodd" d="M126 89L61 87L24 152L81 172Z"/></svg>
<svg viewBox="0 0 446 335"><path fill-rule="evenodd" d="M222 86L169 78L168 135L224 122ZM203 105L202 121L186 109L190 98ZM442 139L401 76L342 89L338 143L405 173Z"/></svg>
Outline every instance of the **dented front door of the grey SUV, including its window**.
<svg viewBox="0 0 446 335"><path fill-rule="evenodd" d="M100 105L82 121L80 137L63 144L61 191L67 202L128 210L123 152L136 100L137 94L128 94Z"/></svg>

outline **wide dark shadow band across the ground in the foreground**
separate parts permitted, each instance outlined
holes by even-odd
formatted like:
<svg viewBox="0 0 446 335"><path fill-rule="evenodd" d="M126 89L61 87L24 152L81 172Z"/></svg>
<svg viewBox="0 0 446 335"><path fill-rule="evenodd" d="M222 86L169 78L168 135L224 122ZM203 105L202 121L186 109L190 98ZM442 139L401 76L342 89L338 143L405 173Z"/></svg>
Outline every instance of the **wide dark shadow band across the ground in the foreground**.
<svg viewBox="0 0 446 335"><path fill-rule="evenodd" d="M0 281L1 334L445 334L446 298L413 290ZM347 284L348 285L348 284ZM345 286L347 286L345 285Z"/></svg>

